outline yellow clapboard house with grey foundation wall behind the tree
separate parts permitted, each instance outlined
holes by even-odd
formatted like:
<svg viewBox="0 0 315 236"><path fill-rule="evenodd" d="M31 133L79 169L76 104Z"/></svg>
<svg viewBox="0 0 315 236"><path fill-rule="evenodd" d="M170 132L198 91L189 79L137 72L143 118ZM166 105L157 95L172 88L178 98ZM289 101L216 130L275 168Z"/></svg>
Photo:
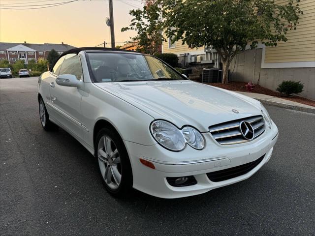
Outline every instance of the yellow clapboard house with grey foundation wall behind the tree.
<svg viewBox="0 0 315 236"><path fill-rule="evenodd" d="M275 2L284 4L286 1ZM273 90L284 80L301 81L304 84L301 95L315 100L315 0L301 0L299 6L303 14L297 29L287 32L286 42L279 42L277 47L260 44L256 50L236 56L230 66L233 81L253 81ZM163 53L175 53L180 58L186 54L188 62L195 59L194 55L208 60L209 53L205 51L204 47L190 49L181 41L172 44L170 39L162 45Z"/></svg>

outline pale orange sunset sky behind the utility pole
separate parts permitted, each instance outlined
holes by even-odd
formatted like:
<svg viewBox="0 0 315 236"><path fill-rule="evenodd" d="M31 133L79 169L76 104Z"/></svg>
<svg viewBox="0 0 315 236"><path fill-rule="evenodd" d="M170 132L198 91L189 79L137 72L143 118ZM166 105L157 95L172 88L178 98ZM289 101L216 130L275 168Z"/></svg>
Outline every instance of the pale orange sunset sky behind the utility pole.
<svg viewBox="0 0 315 236"><path fill-rule="evenodd" d="M23 5L66 1L69 0L0 0L0 8L31 8ZM135 34L134 31L121 32L121 29L129 26L132 19L129 10L142 5L141 0L113 0L116 42L125 42ZM108 9L108 0L78 0L42 9L0 9L0 42L64 42L75 47L110 42L110 28L105 24L105 18L109 16Z"/></svg>

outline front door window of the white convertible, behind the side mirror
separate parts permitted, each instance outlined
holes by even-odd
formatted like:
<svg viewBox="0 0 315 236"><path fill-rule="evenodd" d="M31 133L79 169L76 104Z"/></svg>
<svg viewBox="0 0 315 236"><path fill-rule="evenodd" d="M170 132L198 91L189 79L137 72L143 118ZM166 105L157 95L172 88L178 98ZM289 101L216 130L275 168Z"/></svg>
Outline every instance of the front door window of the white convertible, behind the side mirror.
<svg viewBox="0 0 315 236"><path fill-rule="evenodd" d="M82 76L82 66L79 56L76 54L65 55L59 74L75 75L75 77L80 80Z"/></svg>

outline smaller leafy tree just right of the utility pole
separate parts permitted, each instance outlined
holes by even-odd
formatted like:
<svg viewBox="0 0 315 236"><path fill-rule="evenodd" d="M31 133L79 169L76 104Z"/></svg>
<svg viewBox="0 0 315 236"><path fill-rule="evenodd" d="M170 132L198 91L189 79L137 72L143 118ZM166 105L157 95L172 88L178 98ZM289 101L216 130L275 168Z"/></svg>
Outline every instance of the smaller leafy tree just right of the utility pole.
<svg viewBox="0 0 315 236"><path fill-rule="evenodd" d="M158 1L147 0L143 9L129 11L133 19L129 27L122 28L122 32L126 30L137 32L137 35L131 39L138 42L138 51L151 55L158 52L159 45L164 40L160 7Z"/></svg>

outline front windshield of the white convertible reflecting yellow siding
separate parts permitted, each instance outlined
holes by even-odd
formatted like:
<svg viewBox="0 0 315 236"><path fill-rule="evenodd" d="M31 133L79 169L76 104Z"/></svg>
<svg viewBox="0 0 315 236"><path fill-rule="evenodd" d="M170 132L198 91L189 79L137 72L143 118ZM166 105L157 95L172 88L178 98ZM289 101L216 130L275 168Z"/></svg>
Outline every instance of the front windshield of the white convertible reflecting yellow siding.
<svg viewBox="0 0 315 236"><path fill-rule="evenodd" d="M152 56L128 53L88 53L95 82L185 80Z"/></svg>

